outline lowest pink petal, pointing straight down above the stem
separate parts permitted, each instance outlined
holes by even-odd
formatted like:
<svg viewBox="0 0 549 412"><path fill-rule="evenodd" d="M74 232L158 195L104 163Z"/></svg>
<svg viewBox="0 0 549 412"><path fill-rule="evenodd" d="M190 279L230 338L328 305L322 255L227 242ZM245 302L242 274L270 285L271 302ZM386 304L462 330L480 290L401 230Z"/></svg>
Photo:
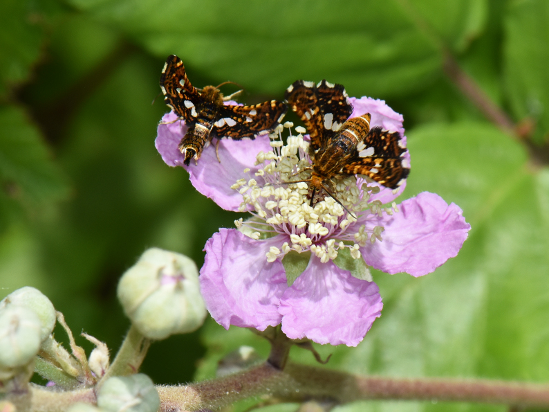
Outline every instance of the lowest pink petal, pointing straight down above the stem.
<svg viewBox="0 0 549 412"><path fill-rule="evenodd" d="M381 316L378 285L353 278L333 262L312 256L307 269L284 292L279 312L290 339L357 346Z"/></svg>

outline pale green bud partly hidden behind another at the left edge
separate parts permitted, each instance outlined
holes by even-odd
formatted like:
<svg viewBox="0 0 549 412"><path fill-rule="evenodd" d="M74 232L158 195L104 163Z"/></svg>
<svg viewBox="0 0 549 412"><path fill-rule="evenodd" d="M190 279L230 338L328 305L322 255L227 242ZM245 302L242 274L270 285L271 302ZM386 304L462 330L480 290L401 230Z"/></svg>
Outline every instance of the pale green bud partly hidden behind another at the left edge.
<svg viewBox="0 0 549 412"><path fill-rule="evenodd" d="M8 296L2 299L0 302L0 309L11 305L23 306L30 309L37 314L40 319L40 341L43 342L55 327L55 307L50 300L34 287L25 286L21 289L17 289L15 292L10 293Z"/></svg>

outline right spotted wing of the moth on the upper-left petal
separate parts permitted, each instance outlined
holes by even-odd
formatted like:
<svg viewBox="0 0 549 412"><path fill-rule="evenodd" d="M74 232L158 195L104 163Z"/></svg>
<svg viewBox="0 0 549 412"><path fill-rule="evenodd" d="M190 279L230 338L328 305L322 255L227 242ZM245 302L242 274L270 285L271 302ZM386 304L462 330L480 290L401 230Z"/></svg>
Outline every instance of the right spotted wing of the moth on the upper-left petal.
<svg viewBox="0 0 549 412"><path fill-rule="evenodd" d="M275 129L288 111L284 102L271 100L254 106L225 105L218 110L214 131L218 137L254 138Z"/></svg>

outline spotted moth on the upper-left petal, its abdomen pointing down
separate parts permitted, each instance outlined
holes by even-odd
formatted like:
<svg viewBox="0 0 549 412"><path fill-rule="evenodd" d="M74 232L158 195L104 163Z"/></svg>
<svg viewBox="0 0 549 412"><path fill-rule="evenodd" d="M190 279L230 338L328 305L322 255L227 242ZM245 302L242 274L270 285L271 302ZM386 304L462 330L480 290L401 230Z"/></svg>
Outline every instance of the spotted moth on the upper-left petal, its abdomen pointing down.
<svg viewBox="0 0 549 412"><path fill-rule="evenodd" d="M223 84L196 89L189 82L179 57L171 55L166 60L160 76L160 89L166 105L189 127L178 145L185 156L185 165L189 165L193 158L198 161L213 137L239 140L268 134L288 111L288 105L277 100L254 106L224 105L223 102L239 92L224 97L219 90Z"/></svg>

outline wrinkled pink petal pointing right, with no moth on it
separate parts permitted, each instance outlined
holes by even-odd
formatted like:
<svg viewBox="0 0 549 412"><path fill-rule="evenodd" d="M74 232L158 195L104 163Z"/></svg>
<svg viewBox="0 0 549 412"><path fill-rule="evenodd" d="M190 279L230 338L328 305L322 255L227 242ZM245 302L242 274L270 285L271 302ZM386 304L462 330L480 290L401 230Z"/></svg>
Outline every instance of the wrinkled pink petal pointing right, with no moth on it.
<svg viewBox="0 0 549 412"><path fill-rule="evenodd" d="M458 254L471 229L456 204L448 205L434 193L422 192L398 208L400 212L393 216L369 220L371 225L385 227L383 241L361 248L368 265L389 274L407 272L417 277L431 273Z"/></svg>

